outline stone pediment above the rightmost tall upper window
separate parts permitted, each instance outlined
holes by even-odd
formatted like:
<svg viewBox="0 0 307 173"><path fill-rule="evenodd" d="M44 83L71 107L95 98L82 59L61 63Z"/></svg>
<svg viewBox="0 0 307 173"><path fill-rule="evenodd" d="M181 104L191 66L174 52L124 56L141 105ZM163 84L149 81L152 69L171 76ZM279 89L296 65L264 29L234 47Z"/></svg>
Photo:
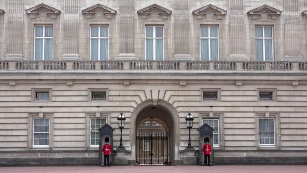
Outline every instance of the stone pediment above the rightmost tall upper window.
<svg viewBox="0 0 307 173"><path fill-rule="evenodd" d="M282 13L282 11L277 10L271 6L268 5L263 5L260 7L257 7L255 9L250 10L247 12L249 16L251 16L251 19L257 20L261 18L261 14L267 14L268 16L271 17L272 20L277 20L278 16Z"/></svg>

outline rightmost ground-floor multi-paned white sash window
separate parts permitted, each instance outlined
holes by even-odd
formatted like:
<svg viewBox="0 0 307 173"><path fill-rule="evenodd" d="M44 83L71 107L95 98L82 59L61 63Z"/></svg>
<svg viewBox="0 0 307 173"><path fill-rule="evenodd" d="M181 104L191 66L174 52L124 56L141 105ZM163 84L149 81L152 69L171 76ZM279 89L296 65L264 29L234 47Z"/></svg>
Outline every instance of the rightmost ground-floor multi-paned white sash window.
<svg viewBox="0 0 307 173"><path fill-rule="evenodd" d="M275 146L274 118L259 119L259 145Z"/></svg>

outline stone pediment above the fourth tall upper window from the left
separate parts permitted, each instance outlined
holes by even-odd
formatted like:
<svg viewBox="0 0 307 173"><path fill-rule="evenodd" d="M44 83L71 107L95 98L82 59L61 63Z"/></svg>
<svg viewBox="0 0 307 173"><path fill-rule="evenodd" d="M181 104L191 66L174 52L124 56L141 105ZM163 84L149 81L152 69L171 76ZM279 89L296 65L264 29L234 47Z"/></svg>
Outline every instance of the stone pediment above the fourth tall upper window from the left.
<svg viewBox="0 0 307 173"><path fill-rule="evenodd" d="M223 19L223 16L226 15L227 11L223 10L217 6L209 4L207 6L203 6L199 9L193 11L193 15L196 16L196 19L206 18L206 12L213 11L213 14L217 17L218 20Z"/></svg>

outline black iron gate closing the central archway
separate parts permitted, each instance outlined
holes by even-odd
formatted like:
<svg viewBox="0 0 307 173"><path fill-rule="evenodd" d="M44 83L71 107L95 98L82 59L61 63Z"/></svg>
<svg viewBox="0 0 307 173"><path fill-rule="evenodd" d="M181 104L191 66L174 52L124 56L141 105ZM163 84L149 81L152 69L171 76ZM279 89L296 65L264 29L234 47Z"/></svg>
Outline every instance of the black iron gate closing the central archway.
<svg viewBox="0 0 307 173"><path fill-rule="evenodd" d="M137 132L136 163L139 165L167 165L167 140L166 132Z"/></svg>

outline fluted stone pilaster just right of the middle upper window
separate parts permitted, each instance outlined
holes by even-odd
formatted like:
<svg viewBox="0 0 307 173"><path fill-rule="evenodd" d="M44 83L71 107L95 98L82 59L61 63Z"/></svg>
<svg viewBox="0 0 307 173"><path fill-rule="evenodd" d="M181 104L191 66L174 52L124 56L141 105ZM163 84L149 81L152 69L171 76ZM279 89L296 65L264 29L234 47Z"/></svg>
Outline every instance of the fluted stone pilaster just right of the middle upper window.
<svg viewBox="0 0 307 173"><path fill-rule="evenodd" d="M190 60L190 11L189 0L174 0L174 59ZM180 29L179 29L180 28Z"/></svg>

